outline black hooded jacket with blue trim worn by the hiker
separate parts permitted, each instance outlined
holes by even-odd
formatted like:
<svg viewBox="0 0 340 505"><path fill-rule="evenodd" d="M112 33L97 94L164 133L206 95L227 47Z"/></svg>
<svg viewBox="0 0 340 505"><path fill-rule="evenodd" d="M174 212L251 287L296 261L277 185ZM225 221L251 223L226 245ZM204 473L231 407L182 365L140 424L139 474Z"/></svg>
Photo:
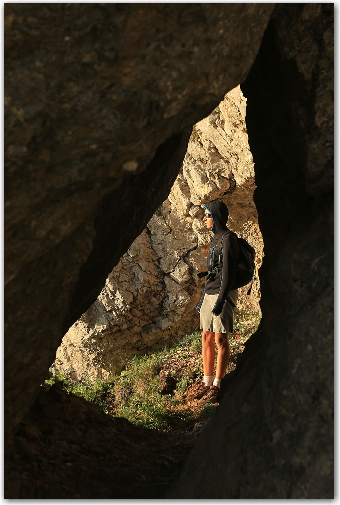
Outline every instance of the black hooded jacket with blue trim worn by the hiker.
<svg viewBox="0 0 340 505"><path fill-rule="evenodd" d="M217 250L217 242L225 231L229 231L225 224L228 221L229 212L228 208L222 201L210 201L203 207L210 212L213 220L211 230L214 232L214 236L211 239L207 257L208 270L212 270L218 263L219 251ZM205 293L218 293L216 303L211 311L217 316L222 312L223 304L228 297L229 291L231 289L235 289L233 283L236 276L238 256L236 235L231 232L226 234L222 239L221 248L223 255L222 269L219 273L212 275L206 280L204 292L197 307L198 310L201 309Z"/></svg>

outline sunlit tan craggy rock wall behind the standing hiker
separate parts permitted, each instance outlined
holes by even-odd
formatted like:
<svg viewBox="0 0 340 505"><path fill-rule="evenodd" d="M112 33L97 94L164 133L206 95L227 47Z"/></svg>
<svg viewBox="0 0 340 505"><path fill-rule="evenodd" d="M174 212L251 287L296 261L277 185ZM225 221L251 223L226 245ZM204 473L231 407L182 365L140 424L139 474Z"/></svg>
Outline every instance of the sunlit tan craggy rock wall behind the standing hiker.
<svg viewBox="0 0 340 505"><path fill-rule="evenodd" d="M181 171L168 198L112 270L88 311L70 328L51 371L74 380L107 376L133 355L154 350L199 329L196 306L206 270L211 232L201 205L223 200L228 225L256 249L262 263L262 236L253 201L254 164L245 123L246 98L240 86L195 125ZM258 274L257 274L258 279ZM259 283L240 289L239 309L259 311Z"/></svg>

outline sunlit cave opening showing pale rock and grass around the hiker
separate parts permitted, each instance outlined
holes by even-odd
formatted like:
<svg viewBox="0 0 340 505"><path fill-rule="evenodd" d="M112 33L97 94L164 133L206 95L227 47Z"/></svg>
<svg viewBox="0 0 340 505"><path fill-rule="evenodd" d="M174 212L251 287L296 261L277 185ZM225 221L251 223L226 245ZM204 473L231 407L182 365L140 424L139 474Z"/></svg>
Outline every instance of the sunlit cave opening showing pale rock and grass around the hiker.
<svg viewBox="0 0 340 505"><path fill-rule="evenodd" d="M167 198L111 271L94 304L67 331L50 374L106 414L154 429L184 432L202 426L208 407L204 412L201 407L201 418L198 405L182 405L203 373L196 306L205 279L197 274L206 269L212 232L203 222L202 205L223 201L229 229L255 249L253 281L239 289L230 373L261 315L263 240L254 179L246 98L237 86L194 125ZM148 359L136 359L144 355Z"/></svg>

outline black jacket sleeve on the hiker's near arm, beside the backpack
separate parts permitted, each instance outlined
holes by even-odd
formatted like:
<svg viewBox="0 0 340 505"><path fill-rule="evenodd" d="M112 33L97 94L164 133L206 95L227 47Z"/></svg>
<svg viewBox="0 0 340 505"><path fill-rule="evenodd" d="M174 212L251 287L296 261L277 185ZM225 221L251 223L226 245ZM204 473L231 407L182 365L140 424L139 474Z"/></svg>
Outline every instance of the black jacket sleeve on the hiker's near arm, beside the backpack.
<svg viewBox="0 0 340 505"><path fill-rule="evenodd" d="M236 265L237 265L237 238L235 235L229 233L223 237L222 243L222 280L219 294L211 312L220 315L224 305L224 301L228 296L229 291L234 283L236 276Z"/></svg>

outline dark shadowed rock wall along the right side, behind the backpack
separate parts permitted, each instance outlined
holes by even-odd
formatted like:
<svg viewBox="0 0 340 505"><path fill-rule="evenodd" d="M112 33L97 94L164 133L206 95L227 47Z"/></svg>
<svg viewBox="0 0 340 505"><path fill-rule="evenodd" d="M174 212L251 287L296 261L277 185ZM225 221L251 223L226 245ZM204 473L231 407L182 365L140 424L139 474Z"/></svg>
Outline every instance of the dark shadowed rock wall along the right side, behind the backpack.
<svg viewBox="0 0 340 505"><path fill-rule="evenodd" d="M241 85L263 324L171 497L334 495L332 37L333 5L278 5Z"/></svg>

